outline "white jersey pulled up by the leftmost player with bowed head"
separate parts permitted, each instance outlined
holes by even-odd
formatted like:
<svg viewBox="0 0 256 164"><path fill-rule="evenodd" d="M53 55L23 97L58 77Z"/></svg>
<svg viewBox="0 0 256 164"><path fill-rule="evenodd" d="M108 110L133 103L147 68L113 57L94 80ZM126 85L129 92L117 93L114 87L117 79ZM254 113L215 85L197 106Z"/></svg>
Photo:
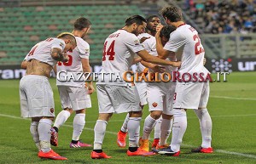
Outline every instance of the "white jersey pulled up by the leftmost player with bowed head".
<svg viewBox="0 0 256 164"><path fill-rule="evenodd" d="M52 67L57 63L55 59L51 57L52 48L60 48L61 51L65 48L65 42L62 39L50 37L42 42L38 42L32 47L30 52L26 54L26 60L37 59L38 61L44 62Z"/></svg>

